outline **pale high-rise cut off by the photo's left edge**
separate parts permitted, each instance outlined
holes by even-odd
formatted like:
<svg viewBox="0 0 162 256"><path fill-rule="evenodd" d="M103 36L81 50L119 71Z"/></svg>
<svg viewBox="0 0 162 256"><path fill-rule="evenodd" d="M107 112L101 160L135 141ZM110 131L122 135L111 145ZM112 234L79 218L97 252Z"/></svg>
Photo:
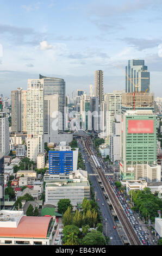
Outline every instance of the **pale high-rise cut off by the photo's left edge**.
<svg viewBox="0 0 162 256"><path fill-rule="evenodd" d="M10 154L9 120L3 112L3 103L0 99L0 153L4 156Z"/></svg>

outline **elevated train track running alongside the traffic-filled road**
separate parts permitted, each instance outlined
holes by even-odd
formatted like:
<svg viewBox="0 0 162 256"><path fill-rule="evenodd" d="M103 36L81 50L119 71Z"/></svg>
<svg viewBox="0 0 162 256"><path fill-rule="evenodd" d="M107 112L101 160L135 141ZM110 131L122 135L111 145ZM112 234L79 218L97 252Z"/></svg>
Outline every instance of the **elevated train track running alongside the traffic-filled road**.
<svg viewBox="0 0 162 256"><path fill-rule="evenodd" d="M86 147L89 155L91 156L91 155L94 155L94 153L92 153L92 150L89 147L90 140L91 140L90 137L86 140L85 147ZM128 221L125 212L121 208L119 200L117 199L117 197L113 191L113 188L111 188L109 181L108 181L107 177L105 176L103 170L101 169L101 167L96 168L96 170L98 172L99 178L102 181L105 192L107 192L108 197L111 200L111 204L113 205L113 208L116 211L117 217L119 218L119 220L127 234L130 244L131 245L141 245L138 236L136 235L132 225Z"/></svg>

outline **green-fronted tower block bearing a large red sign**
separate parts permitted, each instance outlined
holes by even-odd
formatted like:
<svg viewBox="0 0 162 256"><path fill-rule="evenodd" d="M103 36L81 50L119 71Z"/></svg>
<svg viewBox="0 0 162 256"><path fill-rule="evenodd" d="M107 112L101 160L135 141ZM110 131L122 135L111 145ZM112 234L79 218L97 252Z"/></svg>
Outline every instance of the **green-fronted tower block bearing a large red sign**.
<svg viewBox="0 0 162 256"><path fill-rule="evenodd" d="M157 115L151 110L127 111L121 119L122 180L161 181L157 164Z"/></svg>

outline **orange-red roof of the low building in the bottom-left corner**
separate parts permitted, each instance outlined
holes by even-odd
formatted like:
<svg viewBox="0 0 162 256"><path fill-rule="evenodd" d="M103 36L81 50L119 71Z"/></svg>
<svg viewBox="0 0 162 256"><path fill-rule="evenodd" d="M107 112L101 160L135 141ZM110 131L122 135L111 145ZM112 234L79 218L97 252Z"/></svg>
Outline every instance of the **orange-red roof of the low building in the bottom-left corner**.
<svg viewBox="0 0 162 256"><path fill-rule="evenodd" d="M17 228L0 228L0 237L46 238L51 217L23 216Z"/></svg>

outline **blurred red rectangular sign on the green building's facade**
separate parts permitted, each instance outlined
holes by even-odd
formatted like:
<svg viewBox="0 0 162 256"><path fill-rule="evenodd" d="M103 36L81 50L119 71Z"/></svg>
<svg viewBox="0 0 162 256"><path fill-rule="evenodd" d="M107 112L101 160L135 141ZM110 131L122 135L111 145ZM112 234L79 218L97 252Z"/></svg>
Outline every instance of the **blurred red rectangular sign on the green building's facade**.
<svg viewBox="0 0 162 256"><path fill-rule="evenodd" d="M153 133L153 120L128 120L128 133Z"/></svg>

